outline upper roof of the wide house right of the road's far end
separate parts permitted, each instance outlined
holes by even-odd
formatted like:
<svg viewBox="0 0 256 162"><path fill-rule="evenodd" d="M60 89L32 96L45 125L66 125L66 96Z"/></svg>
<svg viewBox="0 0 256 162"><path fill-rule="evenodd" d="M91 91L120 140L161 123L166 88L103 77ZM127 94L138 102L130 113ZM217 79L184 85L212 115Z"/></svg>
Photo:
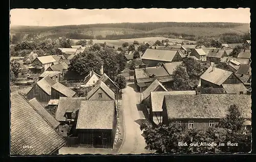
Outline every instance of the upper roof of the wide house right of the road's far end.
<svg viewBox="0 0 256 162"><path fill-rule="evenodd" d="M155 76L168 76L168 72L164 69L164 67L146 67L141 69L135 69L136 79L140 78L149 78L150 75Z"/></svg>

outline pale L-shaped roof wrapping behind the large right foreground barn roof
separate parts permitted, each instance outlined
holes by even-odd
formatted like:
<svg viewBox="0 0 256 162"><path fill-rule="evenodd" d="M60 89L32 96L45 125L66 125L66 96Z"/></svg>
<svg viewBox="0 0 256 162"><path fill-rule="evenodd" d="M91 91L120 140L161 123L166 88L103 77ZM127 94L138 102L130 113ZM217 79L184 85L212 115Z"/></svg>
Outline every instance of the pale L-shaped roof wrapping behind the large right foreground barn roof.
<svg viewBox="0 0 256 162"><path fill-rule="evenodd" d="M152 111L162 112L163 98L165 95L195 95L196 91L155 91L150 93Z"/></svg>

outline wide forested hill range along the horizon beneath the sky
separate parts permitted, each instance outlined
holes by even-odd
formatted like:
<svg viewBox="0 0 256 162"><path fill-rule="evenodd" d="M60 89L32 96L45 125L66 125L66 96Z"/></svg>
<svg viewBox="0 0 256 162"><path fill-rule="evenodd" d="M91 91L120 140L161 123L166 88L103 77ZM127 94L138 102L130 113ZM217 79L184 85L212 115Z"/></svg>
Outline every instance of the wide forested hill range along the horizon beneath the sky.
<svg viewBox="0 0 256 162"><path fill-rule="evenodd" d="M20 39L66 37L70 39L129 39L143 37L182 36L188 40L219 37L222 34L248 33L247 23L230 22L146 22L108 23L63 26L11 26L11 36Z"/></svg>

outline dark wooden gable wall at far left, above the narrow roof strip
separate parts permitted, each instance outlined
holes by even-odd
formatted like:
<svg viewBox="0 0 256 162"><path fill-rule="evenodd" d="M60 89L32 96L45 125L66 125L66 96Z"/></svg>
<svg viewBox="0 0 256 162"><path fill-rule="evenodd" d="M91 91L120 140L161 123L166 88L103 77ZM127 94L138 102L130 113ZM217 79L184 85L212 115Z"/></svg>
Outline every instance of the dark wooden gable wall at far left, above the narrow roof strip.
<svg viewBox="0 0 256 162"><path fill-rule="evenodd" d="M35 84L35 86L29 91L27 94L27 98L30 100L32 98L36 98L39 102L49 102L51 99L51 95L48 95L43 91L40 87Z"/></svg>

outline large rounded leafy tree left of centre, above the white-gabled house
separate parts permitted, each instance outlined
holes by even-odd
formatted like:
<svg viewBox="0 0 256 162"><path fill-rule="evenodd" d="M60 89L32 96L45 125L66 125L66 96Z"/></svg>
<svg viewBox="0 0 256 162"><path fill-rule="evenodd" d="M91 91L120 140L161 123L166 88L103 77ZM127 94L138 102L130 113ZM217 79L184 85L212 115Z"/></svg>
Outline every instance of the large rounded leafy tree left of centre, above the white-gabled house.
<svg viewBox="0 0 256 162"><path fill-rule="evenodd" d="M69 70L76 71L80 75L86 75L91 70L99 73L102 66L102 60L93 51L79 53L70 60Z"/></svg>

